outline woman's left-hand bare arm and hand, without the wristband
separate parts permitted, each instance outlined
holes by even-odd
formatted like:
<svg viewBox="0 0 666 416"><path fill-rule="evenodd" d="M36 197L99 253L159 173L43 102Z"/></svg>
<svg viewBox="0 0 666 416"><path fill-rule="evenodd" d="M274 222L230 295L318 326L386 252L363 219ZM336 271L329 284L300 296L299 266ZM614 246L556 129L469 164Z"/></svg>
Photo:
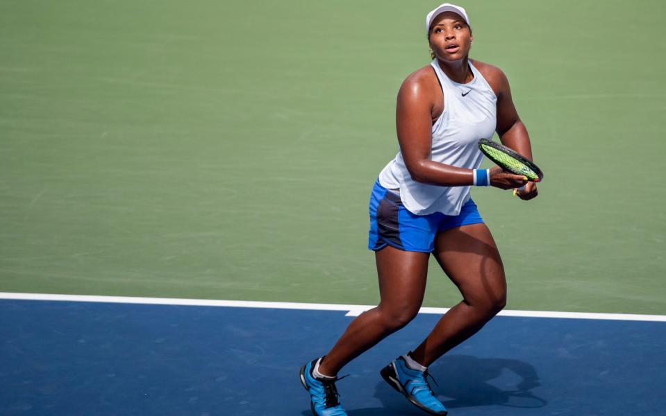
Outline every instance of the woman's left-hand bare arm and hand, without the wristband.
<svg viewBox="0 0 666 416"><path fill-rule="evenodd" d="M444 110L442 90L431 67L410 74L402 83L396 105L396 130L407 170L416 182L444 187L472 185L472 169L458 168L431 159L432 125ZM493 179L497 179L497 174ZM506 187L524 184L522 177L501 174ZM504 182L503 181L503 182ZM494 182L497 183L497 180ZM493 183L494 186L498 184Z"/></svg>

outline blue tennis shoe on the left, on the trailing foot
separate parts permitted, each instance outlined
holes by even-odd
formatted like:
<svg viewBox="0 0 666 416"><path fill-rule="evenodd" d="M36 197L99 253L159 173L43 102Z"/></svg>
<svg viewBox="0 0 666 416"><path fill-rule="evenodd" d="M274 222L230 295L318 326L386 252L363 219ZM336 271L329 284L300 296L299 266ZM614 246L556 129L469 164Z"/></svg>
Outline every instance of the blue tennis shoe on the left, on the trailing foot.
<svg viewBox="0 0 666 416"><path fill-rule="evenodd" d="M338 401L338 388L335 387L335 381L340 379L338 377L331 380L315 379L313 376L315 364L322 358L317 358L301 367L301 384L310 393L310 408L313 415L347 416L347 412Z"/></svg>

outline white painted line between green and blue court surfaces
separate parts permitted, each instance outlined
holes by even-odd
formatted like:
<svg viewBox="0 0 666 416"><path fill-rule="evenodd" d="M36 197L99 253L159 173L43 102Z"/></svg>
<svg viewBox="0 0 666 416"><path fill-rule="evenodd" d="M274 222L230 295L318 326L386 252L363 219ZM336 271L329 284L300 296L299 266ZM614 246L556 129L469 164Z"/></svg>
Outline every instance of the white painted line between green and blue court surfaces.
<svg viewBox="0 0 666 416"><path fill-rule="evenodd" d="M347 311L346 316L358 316L363 311L374 308L372 305L309 304L297 302L258 302L251 300L206 300L177 299L172 297L129 297L97 295L50 295L48 293L10 293L0 292L0 299L8 300L56 300L67 302L101 302L148 305L185 305L185 306L226 306L232 308L265 309L305 309L308 311ZM419 313L442 315L449 308L423 307ZM552 312L552 311L501 311L500 316L524 318L567 318L596 320L632 320L666 322L666 315L636 315L631 313L588 313L588 312Z"/></svg>

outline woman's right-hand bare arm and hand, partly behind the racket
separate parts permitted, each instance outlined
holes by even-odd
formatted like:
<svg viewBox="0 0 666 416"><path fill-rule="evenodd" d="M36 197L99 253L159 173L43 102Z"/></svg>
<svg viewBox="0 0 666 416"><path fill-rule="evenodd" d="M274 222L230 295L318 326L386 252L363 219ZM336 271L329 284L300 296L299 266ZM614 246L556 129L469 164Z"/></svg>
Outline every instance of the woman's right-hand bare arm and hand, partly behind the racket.
<svg viewBox="0 0 666 416"><path fill-rule="evenodd" d="M527 159L532 159L532 146L527 128L520 120L513 98L511 88L506 75L499 69L494 68L492 81L497 96L497 135L504 146L508 146L520 153ZM527 182L524 189L517 191L517 196L523 200L531 200L538 195L535 182Z"/></svg>

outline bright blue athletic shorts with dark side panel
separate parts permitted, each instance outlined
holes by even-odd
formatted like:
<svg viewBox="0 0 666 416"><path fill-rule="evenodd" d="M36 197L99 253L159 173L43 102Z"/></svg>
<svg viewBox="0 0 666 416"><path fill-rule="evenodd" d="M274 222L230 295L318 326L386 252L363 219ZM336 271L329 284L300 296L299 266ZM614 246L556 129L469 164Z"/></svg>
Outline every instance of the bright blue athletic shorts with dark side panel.
<svg viewBox="0 0 666 416"><path fill-rule="evenodd" d="M435 234L447 229L469 224L483 224L476 204L470 198L459 215L435 212L416 215L408 211L398 193L374 183L370 194L369 250L381 250L386 245L405 251L432 252L435 250Z"/></svg>

